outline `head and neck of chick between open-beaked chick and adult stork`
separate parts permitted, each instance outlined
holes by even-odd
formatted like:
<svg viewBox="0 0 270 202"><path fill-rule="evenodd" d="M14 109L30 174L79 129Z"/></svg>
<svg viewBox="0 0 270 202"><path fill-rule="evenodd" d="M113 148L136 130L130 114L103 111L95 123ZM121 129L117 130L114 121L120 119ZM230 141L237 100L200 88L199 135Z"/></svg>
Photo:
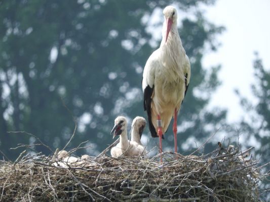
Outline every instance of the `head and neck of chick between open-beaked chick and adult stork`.
<svg viewBox="0 0 270 202"><path fill-rule="evenodd" d="M143 117L137 116L133 119L131 124L131 141L137 142L139 145L142 145L141 136L145 126L146 120Z"/></svg>

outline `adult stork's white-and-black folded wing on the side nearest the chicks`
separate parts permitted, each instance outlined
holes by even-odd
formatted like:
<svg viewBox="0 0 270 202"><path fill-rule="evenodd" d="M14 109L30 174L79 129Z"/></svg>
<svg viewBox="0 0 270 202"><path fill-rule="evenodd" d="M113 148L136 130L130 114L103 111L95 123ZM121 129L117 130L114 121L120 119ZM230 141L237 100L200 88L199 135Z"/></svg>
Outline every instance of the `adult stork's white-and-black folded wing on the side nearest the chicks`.
<svg viewBox="0 0 270 202"><path fill-rule="evenodd" d="M151 120L151 102L152 95L154 90L154 81L155 81L155 70L160 65L158 61L159 49L153 52L148 58L142 77L142 90L143 90L143 107L144 111L147 112L149 130L152 137L158 137L155 127L152 124Z"/></svg>

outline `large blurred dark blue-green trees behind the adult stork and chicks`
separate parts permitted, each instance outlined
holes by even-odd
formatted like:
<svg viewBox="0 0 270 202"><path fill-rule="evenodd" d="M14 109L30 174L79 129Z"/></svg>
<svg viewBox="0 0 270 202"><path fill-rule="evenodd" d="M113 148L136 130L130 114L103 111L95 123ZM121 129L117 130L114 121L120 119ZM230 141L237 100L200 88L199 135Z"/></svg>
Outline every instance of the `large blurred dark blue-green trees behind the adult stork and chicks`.
<svg viewBox="0 0 270 202"><path fill-rule="evenodd" d="M109 131L115 117L145 117L142 71L161 39L151 33L161 36L162 9L172 3L180 12L179 33L191 63L178 145L180 153L195 148L195 141L225 125L225 110L207 108L220 84L220 67L202 66L204 54L216 50L216 35L224 29L208 22L200 10L214 2L0 2L1 150L14 159L20 150L10 147L38 143L24 133L7 131L26 131L53 149L61 148L73 133L74 118L78 128L69 146L89 140L89 148L81 151L94 156L112 142ZM150 26L155 12L160 21ZM150 137L148 128L144 134ZM170 149L172 142L168 130L165 147ZM50 154L44 146L34 148Z"/></svg>

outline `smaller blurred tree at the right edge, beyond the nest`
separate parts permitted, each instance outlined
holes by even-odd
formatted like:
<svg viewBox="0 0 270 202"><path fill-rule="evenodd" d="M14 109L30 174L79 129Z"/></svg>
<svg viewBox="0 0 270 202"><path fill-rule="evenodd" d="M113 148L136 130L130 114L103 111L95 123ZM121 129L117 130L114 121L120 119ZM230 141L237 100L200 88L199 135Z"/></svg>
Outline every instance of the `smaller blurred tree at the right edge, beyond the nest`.
<svg viewBox="0 0 270 202"><path fill-rule="evenodd" d="M247 115L240 122L241 132L247 139L244 144L245 146L252 146L254 144L252 138L255 137L258 145L255 147L255 154L260 165L264 165L270 159L270 71L265 70L258 53L255 53L253 67L256 83L251 85L251 89L254 99L249 100L242 96L239 90L236 90L236 93L239 95L241 106L243 106ZM265 169L269 171L270 166L266 166ZM264 181L262 188L269 190L269 180ZM267 197L266 194L264 195Z"/></svg>

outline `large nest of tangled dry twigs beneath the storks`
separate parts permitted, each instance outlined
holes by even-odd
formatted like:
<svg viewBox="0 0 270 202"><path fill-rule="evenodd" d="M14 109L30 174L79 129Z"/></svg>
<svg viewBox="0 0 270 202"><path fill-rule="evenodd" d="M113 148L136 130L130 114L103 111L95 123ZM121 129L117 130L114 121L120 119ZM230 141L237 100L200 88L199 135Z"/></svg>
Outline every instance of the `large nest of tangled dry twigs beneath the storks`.
<svg viewBox="0 0 270 202"><path fill-rule="evenodd" d="M22 153L0 162L0 201L260 201L260 167L221 145L206 155L106 155L66 163ZM63 166L65 164L65 166Z"/></svg>

